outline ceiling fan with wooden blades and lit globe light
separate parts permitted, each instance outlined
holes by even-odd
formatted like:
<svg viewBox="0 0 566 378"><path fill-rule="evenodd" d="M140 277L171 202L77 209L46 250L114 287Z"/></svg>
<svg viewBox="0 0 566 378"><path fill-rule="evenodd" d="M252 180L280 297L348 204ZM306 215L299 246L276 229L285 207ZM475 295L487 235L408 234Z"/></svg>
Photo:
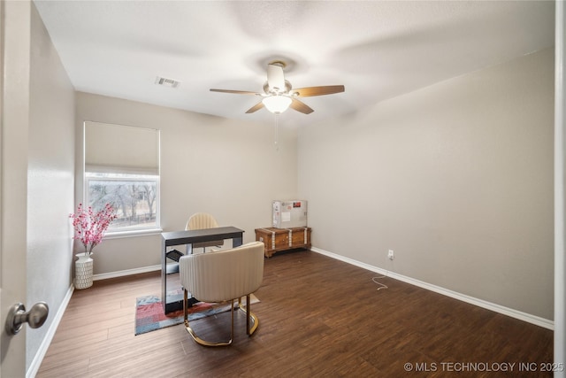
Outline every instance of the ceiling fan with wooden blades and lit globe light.
<svg viewBox="0 0 566 378"><path fill-rule="evenodd" d="M233 93L236 95L253 95L264 97L262 101L249 108L246 113L257 112L263 107L268 111L280 114L285 112L287 108L294 109L297 112L310 114L314 112L309 105L298 100L298 97L323 96L332 95L344 91L343 85L327 85L321 87L306 87L293 89L291 83L285 80L283 68L285 63L275 61L267 66L267 81L264 83L264 93L250 92L246 90L232 89L210 89L212 92Z"/></svg>

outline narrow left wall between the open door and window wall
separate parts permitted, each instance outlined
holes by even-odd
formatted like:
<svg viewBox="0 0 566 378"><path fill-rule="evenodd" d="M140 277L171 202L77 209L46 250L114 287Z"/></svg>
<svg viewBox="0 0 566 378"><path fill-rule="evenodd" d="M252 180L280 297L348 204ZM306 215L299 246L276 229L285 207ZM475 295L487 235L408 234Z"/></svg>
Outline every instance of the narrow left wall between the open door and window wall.
<svg viewBox="0 0 566 378"><path fill-rule="evenodd" d="M68 218L74 205L74 88L32 7L27 166L27 304L46 301L50 318L27 332L27 366L73 282ZM36 363L36 362L35 362Z"/></svg>

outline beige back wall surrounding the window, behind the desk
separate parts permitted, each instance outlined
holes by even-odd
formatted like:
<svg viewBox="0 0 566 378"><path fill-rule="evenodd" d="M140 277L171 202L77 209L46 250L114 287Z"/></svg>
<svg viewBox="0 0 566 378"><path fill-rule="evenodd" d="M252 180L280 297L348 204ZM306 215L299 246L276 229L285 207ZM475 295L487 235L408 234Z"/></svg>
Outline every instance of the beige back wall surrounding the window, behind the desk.
<svg viewBox="0 0 566 378"><path fill-rule="evenodd" d="M274 124L226 120L195 112L107 96L77 94L77 146L85 120L160 130L161 223L164 231L185 228L195 212L210 212L220 226L268 227L271 202L296 196L296 132ZM77 150L77 201L81 201L82 151ZM160 264L161 236L104 240L95 249L95 274L113 274Z"/></svg>

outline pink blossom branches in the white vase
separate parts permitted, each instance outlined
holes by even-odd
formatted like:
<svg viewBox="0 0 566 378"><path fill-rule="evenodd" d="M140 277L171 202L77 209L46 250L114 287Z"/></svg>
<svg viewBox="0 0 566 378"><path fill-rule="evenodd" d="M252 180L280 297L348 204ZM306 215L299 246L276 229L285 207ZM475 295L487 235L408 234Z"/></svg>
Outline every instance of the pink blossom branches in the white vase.
<svg viewBox="0 0 566 378"><path fill-rule="evenodd" d="M116 212L114 212L111 204L105 204L99 212L94 212L91 206L85 209L82 204L79 204L77 212L69 214L69 218L73 219L73 239L80 240L82 245L85 246L85 254L90 256L92 249L103 241L106 229L116 217Z"/></svg>

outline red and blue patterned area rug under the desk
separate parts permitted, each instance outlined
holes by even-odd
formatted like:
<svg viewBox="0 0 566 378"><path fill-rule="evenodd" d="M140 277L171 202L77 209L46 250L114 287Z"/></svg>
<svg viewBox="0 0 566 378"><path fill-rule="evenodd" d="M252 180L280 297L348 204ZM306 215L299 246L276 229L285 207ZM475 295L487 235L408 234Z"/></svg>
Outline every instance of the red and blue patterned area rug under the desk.
<svg viewBox="0 0 566 378"><path fill-rule="evenodd" d="M242 303L245 304L245 302L246 297L242 297ZM254 304L259 302L259 299L251 294L250 302ZM237 305L238 302L234 301L234 308ZM188 309L188 321L202 319L226 311L230 311L229 303L198 302ZM145 296L135 298L135 335L176 326L182 322L183 310L164 314L160 297Z"/></svg>

